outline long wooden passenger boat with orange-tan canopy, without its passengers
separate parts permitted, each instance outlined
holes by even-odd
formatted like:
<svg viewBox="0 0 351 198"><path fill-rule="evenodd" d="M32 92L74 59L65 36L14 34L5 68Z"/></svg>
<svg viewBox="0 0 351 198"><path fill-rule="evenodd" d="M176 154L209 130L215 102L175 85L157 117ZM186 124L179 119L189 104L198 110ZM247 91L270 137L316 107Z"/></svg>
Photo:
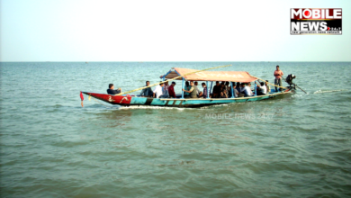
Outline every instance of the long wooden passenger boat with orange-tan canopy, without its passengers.
<svg viewBox="0 0 351 198"><path fill-rule="evenodd" d="M172 79L176 76L183 76L186 73L191 71L196 71L194 69L188 68L179 68L175 67L171 69L166 75L162 76L163 79ZM185 81L206 81L207 87L209 87L209 82L215 81L228 81L228 82L254 82L257 80L257 77L250 76L245 71L202 71L189 76L183 76L180 78L183 80L182 88L184 88ZM282 91L275 92L275 89L271 89L269 93L265 95L253 95L249 97L231 97L231 98L211 98L210 91L208 89L207 98L184 98L184 93L177 94L176 98L151 98L151 97L141 97L140 95L130 95L130 94L122 94L122 95L113 95L113 94L98 94L92 92L81 92L83 94L87 94L96 99L102 100L106 103L111 104L119 104L121 106L130 106L130 105L148 105L148 106L164 106L164 107L202 107L209 106L215 104L223 104L223 103L246 103L252 101L260 101L274 98L278 95L283 94L293 94L294 87L289 86L283 89ZM257 93L257 87L255 84L254 93ZM233 95L233 94L232 94ZM81 94L82 97L82 94ZM82 98L83 100L83 98Z"/></svg>

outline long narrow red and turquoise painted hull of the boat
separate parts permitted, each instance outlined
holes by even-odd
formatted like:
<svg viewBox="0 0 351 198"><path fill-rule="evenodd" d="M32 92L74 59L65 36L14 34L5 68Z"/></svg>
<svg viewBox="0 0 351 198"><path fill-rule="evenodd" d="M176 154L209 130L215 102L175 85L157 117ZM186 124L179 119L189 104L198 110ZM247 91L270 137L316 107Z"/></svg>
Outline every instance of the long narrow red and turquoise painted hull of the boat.
<svg viewBox="0 0 351 198"><path fill-rule="evenodd" d="M112 95L112 94L97 94L90 92L82 92L96 99L102 100L106 103L119 104L122 106L130 105L147 105L147 106L164 106L164 107L188 107L196 108L202 106L223 104L223 103L246 103L253 101L260 101L274 98L278 95L292 94L291 90L286 90L284 92L278 92L274 94L257 95L252 97L238 97L238 98L151 98L151 97L138 97L135 95Z"/></svg>

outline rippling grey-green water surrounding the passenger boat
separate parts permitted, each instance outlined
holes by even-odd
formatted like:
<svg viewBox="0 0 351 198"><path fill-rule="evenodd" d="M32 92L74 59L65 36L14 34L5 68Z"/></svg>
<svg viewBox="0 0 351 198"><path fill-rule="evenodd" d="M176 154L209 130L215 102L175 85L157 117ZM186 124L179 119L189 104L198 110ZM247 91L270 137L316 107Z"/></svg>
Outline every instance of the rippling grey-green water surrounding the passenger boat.
<svg viewBox="0 0 351 198"><path fill-rule="evenodd" d="M3 197L351 196L350 62L0 64ZM80 91L227 64L217 70L269 82L280 65L307 94L200 109L80 105Z"/></svg>

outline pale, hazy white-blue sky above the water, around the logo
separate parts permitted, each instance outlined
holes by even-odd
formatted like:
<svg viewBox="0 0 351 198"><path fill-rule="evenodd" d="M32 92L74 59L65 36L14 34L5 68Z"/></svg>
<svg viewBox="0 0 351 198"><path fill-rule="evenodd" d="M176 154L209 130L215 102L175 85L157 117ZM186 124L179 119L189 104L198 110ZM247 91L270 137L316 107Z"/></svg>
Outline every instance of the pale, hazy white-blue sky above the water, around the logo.
<svg viewBox="0 0 351 198"><path fill-rule="evenodd" d="M0 0L0 61L351 61L351 1ZM342 8L342 35L290 35Z"/></svg>

